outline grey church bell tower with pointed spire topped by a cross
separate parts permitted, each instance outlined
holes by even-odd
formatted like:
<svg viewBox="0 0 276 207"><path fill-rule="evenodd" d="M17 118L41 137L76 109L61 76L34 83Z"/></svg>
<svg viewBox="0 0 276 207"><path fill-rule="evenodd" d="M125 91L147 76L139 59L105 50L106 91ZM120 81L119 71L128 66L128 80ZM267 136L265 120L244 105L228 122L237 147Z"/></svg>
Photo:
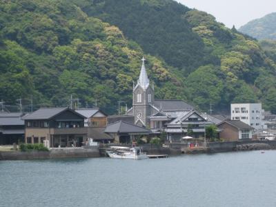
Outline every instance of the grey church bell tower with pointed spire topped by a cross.
<svg viewBox="0 0 276 207"><path fill-rule="evenodd" d="M151 104L155 101L153 86L146 73L145 61L141 59L142 66L137 85L133 87L132 108L135 117L135 125L149 127L148 116L151 115Z"/></svg>

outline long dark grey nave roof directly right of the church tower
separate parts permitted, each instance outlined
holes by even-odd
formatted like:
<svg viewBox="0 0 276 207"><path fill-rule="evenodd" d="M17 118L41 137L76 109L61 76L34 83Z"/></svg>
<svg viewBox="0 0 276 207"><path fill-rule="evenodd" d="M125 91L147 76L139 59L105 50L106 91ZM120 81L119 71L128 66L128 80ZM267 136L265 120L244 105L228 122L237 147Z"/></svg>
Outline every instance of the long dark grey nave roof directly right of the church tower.
<svg viewBox="0 0 276 207"><path fill-rule="evenodd" d="M159 110L193 110L193 106L182 100L155 100L154 106Z"/></svg>

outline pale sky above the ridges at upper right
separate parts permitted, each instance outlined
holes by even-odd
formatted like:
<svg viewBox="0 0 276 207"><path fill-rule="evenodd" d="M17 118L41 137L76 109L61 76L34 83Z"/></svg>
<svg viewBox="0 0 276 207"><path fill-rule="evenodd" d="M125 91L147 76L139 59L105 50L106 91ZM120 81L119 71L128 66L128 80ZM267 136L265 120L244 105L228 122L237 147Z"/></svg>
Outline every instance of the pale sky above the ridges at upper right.
<svg viewBox="0 0 276 207"><path fill-rule="evenodd" d="M253 19L276 12L276 0L176 0L189 8L208 12L228 28L240 26Z"/></svg>

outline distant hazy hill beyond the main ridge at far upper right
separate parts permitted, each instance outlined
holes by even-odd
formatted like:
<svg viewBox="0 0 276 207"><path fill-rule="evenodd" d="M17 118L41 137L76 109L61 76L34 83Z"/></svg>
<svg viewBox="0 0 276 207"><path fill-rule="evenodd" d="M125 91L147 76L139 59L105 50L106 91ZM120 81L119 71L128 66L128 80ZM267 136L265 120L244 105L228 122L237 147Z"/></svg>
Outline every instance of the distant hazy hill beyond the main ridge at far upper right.
<svg viewBox="0 0 276 207"><path fill-rule="evenodd" d="M267 14L266 16L255 19L246 23L239 28L239 31L248 34L257 39L273 39L276 40L276 13Z"/></svg>

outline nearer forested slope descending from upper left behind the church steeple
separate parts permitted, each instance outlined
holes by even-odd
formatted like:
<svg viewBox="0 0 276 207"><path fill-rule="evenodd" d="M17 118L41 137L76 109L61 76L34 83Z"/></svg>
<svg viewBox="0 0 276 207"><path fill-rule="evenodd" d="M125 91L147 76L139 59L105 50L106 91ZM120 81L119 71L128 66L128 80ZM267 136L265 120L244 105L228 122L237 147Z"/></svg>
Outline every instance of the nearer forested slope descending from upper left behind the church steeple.
<svg viewBox="0 0 276 207"><path fill-rule="evenodd" d="M34 105L79 105L116 112L117 101L132 103L143 50L115 26L70 1L2 1L0 4L0 100L34 99ZM160 98L184 98L183 80L146 55ZM27 104L27 103L26 103Z"/></svg>

